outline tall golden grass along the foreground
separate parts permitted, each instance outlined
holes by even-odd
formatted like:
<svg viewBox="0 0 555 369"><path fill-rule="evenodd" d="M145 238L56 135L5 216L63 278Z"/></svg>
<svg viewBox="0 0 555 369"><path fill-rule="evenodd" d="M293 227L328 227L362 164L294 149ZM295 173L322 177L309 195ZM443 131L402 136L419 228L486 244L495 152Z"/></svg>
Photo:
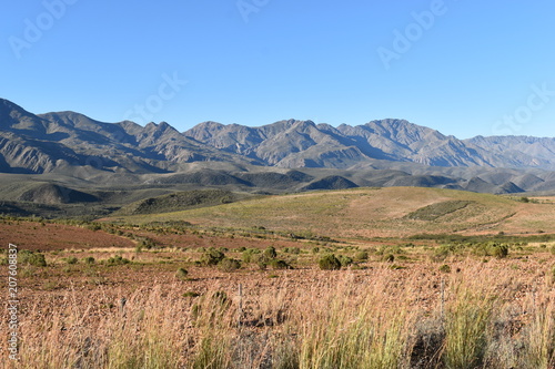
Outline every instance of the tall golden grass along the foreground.
<svg viewBox="0 0 555 369"><path fill-rule="evenodd" d="M554 368L553 276L494 263L319 271L311 285L284 274L241 298L231 281L200 297L157 284L124 305L105 287L37 295L20 315L20 361L0 359L52 369Z"/></svg>

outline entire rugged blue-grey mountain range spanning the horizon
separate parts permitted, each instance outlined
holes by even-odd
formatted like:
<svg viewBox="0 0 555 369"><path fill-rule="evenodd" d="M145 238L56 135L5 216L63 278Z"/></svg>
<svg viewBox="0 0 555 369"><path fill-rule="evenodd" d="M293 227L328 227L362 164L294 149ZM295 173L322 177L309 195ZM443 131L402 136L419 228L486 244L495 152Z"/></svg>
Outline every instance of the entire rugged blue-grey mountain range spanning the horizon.
<svg viewBox="0 0 555 369"><path fill-rule="evenodd" d="M458 140L397 119L336 127L299 120L258 127L204 122L179 132L165 122L141 126L75 112L33 114L0 99L0 173L62 184L81 178L98 186L127 181L272 192L407 185L518 193L555 191L553 171L554 137Z"/></svg>

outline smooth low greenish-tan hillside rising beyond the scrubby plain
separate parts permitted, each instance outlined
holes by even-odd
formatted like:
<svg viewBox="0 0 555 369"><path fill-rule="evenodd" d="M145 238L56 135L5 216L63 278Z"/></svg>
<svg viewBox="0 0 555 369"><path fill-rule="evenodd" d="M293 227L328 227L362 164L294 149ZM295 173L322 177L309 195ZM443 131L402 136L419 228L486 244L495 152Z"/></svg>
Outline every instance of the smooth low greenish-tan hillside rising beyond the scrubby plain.
<svg viewBox="0 0 555 369"><path fill-rule="evenodd" d="M452 189L390 187L310 192L150 216L130 223L185 221L218 227L264 227L332 237L414 234L555 233L555 205Z"/></svg>

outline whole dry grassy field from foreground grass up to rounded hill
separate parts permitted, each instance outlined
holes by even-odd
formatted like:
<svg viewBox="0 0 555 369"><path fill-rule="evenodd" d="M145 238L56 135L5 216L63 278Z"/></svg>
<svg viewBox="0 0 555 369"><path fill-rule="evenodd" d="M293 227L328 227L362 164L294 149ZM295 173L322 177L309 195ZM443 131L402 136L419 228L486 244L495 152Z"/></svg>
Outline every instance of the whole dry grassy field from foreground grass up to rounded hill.
<svg viewBox="0 0 555 369"><path fill-rule="evenodd" d="M553 201L356 188L98 222L3 217L20 362L6 340L0 362L554 368Z"/></svg>

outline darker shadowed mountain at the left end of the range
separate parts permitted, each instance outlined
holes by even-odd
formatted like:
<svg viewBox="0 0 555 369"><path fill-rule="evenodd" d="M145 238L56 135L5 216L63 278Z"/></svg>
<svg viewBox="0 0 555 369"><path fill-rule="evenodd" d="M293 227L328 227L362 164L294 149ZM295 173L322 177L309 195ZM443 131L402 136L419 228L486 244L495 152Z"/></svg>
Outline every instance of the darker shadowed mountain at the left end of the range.
<svg viewBox="0 0 555 369"><path fill-rule="evenodd" d="M174 171L180 163L258 164L191 140L168 123L103 123L74 112L34 115L0 100L0 171L49 173L68 166L132 173Z"/></svg>

